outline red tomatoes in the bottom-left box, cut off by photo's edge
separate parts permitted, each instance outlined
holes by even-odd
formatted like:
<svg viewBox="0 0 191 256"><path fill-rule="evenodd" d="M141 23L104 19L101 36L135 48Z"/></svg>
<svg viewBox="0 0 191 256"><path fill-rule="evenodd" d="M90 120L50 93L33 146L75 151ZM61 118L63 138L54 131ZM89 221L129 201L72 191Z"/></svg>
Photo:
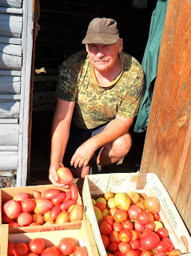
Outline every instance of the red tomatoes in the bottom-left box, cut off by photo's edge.
<svg viewBox="0 0 191 256"><path fill-rule="evenodd" d="M46 247L42 238L33 238L28 244L25 242L8 242L7 256L88 256L85 246L78 246L75 238L62 238L58 246Z"/></svg>

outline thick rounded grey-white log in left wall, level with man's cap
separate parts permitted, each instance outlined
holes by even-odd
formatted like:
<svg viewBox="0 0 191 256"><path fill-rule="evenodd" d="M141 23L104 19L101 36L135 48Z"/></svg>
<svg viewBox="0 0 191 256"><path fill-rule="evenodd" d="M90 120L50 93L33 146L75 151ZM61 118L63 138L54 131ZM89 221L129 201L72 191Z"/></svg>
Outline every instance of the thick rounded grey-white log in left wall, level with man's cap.
<svg viewBox="0 0 191 256"><path fill-rule="evenodd" d="M22 36L22 15L0 14L1 26L0 35L10 38L21 38Z"/></svg>

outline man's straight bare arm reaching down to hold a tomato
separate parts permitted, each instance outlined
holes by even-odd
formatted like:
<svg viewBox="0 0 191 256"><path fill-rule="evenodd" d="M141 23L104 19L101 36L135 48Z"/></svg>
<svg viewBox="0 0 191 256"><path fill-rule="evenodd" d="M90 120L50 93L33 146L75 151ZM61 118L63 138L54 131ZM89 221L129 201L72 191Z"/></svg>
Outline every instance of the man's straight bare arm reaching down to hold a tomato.
<svg viewBox="0 0 191 256"><path fill-rule="evenodd" d="M70 134L70 123L73 116L75 102L66 102L58 98L52 125L52 140L50 154L50 181L55 186L62 186L58 181L58 168L62 161Z"/></svg>

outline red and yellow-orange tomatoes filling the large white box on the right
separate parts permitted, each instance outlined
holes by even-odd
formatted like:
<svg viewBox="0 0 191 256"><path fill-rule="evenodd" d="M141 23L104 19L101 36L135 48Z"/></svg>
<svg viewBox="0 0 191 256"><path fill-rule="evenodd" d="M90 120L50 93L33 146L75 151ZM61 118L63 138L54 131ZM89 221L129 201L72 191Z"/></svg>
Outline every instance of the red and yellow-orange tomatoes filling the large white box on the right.
<svg viewBox="0 0 191 256"><path fill-rule="evenodd" d="M108 256L181 255L161 222L156 197L106 192L92 202Z"/></svg>

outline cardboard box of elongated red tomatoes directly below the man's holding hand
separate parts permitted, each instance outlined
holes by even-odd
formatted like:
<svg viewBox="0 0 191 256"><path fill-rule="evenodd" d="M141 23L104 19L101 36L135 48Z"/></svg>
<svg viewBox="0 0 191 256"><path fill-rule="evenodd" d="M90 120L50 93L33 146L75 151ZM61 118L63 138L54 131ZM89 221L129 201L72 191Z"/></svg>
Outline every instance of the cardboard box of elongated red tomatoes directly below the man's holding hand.
<svg viewBox="0 0 191 256"><path fill-rule="evenodd" d="M10 233L80 229L82 198L70 170L62 169L60 182L65 178L68 189L54 185L2 188L0 225L8 224Z"/></svg>

